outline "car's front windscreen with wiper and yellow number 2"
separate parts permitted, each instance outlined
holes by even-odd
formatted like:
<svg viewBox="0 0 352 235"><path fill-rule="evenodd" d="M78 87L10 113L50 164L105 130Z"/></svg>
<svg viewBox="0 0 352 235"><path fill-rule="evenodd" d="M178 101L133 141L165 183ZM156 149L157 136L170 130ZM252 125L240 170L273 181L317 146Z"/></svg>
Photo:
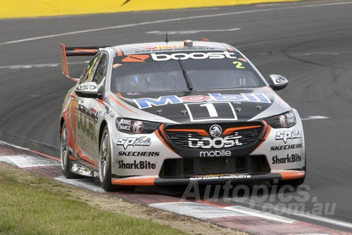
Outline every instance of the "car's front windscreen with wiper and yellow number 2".
<svg viewBox="0 0 352 235"><path fill-rule="evenodd" d="M263 80L244 58L193 56L185 59L182 57L188 55L185 53L178 53L177 55L180 55L178 58L166 54L159 57L155 55L144 61L126 59L127 57L115 58L111 90L122 93L187 91L189 89L187 79L191 82L193 90L265 86ZM182 68L186 74L182 72Z"/></svg>

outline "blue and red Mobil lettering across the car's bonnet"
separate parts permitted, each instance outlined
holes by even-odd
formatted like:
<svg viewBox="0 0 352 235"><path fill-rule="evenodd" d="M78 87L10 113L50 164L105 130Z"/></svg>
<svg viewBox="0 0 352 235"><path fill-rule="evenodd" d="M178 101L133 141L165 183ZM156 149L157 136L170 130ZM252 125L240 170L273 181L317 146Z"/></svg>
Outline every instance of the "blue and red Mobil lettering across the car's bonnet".
<svg viewBox="0 0 352 235"><path fill-rule="evenodd" d="M241 93L241 94L208 94L208 96L159 96L156 99L152 98L140 98L134 99L134 103L140 109L151 108L151 106L165 106L167 104L174 103L189 103L189 102L203 102L203 101L233 101L233 102L258 102L258 103L271 103L265 94L252 94L252 93Z"/></svg>

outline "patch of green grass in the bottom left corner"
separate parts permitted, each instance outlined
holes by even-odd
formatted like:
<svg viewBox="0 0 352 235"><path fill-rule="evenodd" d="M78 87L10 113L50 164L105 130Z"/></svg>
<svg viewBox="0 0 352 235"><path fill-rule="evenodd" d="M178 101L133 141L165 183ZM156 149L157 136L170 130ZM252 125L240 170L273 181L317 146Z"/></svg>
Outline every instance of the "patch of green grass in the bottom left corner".
<svg viewBox="0 0 352 235"><path fill-rule="evenodd" d="M72 190L72 189L71 189ZM0 167L0 234L184 234L92 207L63 184Z"/></svg>

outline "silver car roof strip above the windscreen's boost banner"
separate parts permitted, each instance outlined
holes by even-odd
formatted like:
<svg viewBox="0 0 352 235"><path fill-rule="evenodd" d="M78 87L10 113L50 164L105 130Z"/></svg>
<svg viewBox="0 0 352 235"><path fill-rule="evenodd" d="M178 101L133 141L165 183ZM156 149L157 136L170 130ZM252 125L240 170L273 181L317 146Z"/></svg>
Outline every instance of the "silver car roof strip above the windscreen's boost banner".
<svg viewBox="0 0 352 235"><path fill-rule="evenodd" d="M187 45L187 46L185 46ZM185 40L184 42L149 42L113 46L117 53L131 55L138 53L158 53L173 51L237 51L234 47L219 42Z"/></svg>

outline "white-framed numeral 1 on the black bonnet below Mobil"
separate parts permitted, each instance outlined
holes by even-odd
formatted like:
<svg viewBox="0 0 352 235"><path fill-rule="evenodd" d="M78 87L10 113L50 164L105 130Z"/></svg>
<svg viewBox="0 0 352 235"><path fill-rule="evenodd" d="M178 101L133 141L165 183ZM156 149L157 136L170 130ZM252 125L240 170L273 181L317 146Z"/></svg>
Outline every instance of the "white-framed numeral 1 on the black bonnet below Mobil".
<svg viewBox="0 0 352 235"><path fill-rule="evenodd" d="M186 103L191 122L207 120L237 120L236 111L230 102Z"/></svg>

